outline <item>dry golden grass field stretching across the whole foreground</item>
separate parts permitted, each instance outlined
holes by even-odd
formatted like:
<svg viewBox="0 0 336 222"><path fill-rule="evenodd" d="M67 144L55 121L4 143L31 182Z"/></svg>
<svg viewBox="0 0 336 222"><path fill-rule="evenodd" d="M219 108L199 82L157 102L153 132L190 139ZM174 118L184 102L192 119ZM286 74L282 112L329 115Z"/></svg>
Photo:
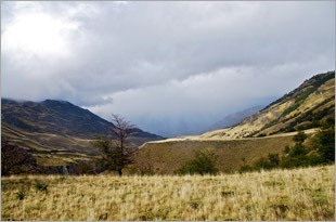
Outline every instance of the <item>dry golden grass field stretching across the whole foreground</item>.
<svg viewBox="0 0 336 222"><path fill-rule="evenodd" d="M335 220L335 166L214 177L11 177L1 186L2 220Z"/></svg>

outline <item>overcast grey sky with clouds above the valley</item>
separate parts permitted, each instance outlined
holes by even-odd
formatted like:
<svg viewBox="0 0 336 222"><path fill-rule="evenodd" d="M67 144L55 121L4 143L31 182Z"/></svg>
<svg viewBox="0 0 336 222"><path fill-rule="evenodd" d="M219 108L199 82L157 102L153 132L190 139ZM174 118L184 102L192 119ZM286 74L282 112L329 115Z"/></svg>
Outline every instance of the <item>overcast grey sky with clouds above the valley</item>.
<svg viewBox="0 0 336 222"><path fill-rule="evenodd" d="M176 136L335 69L335 2L1 2L1 96Z"/></svg>

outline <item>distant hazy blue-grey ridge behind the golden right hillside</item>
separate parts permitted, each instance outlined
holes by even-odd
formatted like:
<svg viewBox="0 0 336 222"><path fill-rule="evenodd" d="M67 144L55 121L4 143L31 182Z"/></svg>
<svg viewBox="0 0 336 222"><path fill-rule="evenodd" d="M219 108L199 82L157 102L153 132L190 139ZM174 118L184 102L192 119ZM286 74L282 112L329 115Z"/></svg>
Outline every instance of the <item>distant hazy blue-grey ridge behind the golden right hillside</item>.
<svg viewBox="0 0 336 222"><path fill-rule="evenodd" d="M234 125L237 125L243 119L251 116L253 114L257 113L261 108L263 108L263 106L254 106L254 107L244 109L242 112L237 112L237 113L231 114L229 116L225 116L224 118L222 118L221 120L219 120L218 122L216 122L215 125L209 127L207 131L225 129L225 128L232 127Z"/></svg>

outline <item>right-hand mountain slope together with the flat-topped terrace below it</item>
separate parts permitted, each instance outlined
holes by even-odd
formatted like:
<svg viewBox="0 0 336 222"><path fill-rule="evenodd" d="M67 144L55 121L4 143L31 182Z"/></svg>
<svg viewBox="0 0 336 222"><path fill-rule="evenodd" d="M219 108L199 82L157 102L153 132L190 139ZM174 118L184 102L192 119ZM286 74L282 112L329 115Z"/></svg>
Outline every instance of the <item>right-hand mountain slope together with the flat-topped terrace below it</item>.
<svg viewBox="0 0 336 222"><path fill-rule="evenodd" d="M211 149L220 171L238 170L270 153L282 154L294 145L297 130L305 130L309 144L324 119L335 116L335 71L319 74L238 125L201 135L147 142L137 156L139 168L172 173L195 151Z"/></svg>

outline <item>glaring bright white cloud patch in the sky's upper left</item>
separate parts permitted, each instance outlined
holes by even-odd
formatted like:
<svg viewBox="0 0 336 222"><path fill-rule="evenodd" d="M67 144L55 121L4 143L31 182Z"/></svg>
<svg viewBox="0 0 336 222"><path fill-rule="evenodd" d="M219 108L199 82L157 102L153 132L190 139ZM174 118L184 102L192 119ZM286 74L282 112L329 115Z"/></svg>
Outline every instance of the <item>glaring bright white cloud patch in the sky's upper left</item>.
<svg viewBox="0 0 336 222"><path fill-rule="evenodd" d="M16 15L1 35L2 52L14 53L22 61L68 56L69 38L79 24L64 18L55 19L43 12L23 12Z"/></svg>

